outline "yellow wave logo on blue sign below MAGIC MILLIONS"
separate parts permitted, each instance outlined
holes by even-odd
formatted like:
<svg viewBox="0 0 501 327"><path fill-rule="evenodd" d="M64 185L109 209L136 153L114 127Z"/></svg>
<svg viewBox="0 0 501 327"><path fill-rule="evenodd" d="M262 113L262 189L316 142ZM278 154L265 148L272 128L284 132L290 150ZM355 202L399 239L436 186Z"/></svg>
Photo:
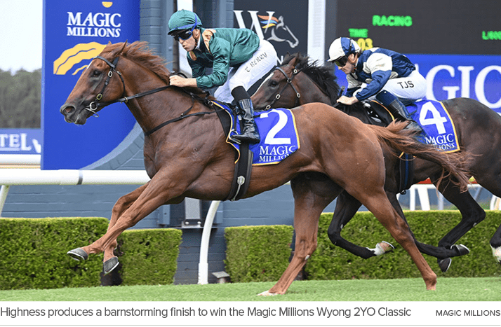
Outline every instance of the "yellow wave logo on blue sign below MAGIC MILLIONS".
<svg viewBox="0 0 501 327"><path fill-rule="evenodd" d="M105 47L105 44L89 42L79 43L73 48L63 51L58 59L54 61L54 75L66 75L76 64L81 63L82 60L89 60L99 55ZM87 66L88 64L81 64L72 74L75 75Z"/></svg>

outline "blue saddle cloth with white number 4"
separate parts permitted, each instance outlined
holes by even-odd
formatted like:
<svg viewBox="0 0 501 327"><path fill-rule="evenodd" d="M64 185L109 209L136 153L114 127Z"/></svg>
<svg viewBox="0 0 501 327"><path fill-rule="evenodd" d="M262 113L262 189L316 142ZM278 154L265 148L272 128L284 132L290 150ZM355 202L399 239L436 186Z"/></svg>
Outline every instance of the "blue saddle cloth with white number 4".
<svg viewBox="0 0 501 327"><path fill-rule="evenodd" d="M426 135L420 137L425 144L433 144L440 151L459 151L454 122L441 102L432 100L417 101L407 106L410 118L417 122Z"/></svg>

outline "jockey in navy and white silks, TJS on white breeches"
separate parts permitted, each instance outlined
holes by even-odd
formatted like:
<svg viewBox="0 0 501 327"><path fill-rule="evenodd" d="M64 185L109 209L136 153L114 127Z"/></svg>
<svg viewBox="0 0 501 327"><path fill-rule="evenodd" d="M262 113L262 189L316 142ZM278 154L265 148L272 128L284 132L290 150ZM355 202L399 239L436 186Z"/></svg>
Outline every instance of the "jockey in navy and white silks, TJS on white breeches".
<svg viewBox="0 0 501 327"><path fill-rule="evenodd" d="M341 37L330 44L329 57L347 75L346 95L338 99L342 104L378 100L394 118L410 120L404 104L426 95L426 79L400 53L382 48L362 51L355 41ZM422 131L414 120L410 122L409 128Z"/></svg>

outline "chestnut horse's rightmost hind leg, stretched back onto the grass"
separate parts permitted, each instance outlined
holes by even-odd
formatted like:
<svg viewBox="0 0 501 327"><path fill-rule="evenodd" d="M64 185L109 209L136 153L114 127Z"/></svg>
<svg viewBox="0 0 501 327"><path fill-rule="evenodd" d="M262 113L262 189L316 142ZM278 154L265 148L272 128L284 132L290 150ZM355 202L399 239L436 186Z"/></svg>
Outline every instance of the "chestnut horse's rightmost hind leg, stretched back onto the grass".
<svg viewBox="0 0 501 327"><path fill-rule="evenodd" d="M389 203L388 197L384 193L381 193L361 202L378 218L378 221L385 226L396 242L409 253L410 258L412 258L417 269L420 270L422 278L425 280L426 288L434 290L436 288L436 274L417 249L408 225L396 213L395 209Z"/></svg>

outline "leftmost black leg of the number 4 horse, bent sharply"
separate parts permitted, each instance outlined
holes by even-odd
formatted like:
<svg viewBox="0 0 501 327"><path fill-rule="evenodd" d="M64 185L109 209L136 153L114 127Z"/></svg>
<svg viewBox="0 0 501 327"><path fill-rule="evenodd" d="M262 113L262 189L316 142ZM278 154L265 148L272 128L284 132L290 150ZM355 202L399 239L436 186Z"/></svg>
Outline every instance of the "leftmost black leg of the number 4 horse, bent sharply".
<svg viewBox="0 0 501 327"><path fill-rule="evenodd" d="M342 249L353 253L355 256L368 259L375 256L374 251L367 249L366 247L353 244L352 242L349 242L347 239L344 239L341 236L342 228L344 228L347 223L352 220L353 216L356 214L356 211L359 210L361 205L362 204L359 200L356 200L345 190L342 191L338 196L338 199L336 200L333 220L330 221L327 234L330 242L333 242L335 246L340 246Z"/></svg>

